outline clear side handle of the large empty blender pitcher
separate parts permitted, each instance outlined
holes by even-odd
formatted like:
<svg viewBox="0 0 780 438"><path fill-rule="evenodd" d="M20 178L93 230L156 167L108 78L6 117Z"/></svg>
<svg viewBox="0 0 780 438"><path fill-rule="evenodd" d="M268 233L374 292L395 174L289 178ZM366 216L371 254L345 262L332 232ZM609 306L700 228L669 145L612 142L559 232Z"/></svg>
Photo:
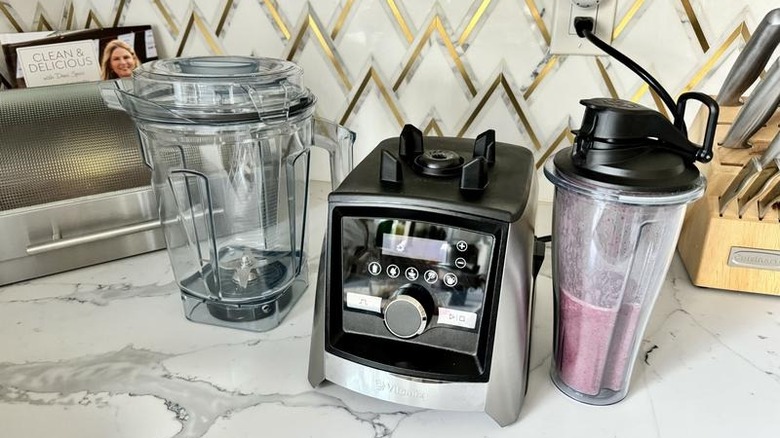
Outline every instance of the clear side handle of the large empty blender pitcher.
<svg viewBox="0 0 780 438"><path fill-rule="evenodd" d="M337 123L314 117L314 146L328 151L333 189L336 189L352 170L354 145L354 132Z"/></svg>

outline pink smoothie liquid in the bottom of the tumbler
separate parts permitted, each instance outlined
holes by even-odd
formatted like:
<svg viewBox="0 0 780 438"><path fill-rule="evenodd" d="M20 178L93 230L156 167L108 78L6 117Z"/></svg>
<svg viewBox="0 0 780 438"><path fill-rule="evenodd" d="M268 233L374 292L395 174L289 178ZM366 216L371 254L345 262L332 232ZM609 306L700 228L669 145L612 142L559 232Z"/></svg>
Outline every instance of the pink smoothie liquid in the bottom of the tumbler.
<svg viewBox="0 0 780 438"><path fill-rule="evenodd" d="M620 311L596 307L565 290L560 298L561 351L556 359L561 380L588 395L604 387L619 391L631 359L639 306L626 304Z"/></svg>

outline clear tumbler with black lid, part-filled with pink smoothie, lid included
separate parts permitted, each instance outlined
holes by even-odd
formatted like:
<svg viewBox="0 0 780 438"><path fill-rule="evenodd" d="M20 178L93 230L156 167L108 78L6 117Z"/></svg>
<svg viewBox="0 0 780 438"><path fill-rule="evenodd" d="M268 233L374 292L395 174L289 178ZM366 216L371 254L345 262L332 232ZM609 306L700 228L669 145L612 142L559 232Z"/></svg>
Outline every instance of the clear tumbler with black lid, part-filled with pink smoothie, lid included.
<svg viewBox="0 0 780 438"><path fill-rule="evenodd" d="M553 204L554 336L551 376L571 398L622 400L682 227L705 180L717 104L703 146L660 113L618 99L589 99L574 146L544 167Z"/></svg>

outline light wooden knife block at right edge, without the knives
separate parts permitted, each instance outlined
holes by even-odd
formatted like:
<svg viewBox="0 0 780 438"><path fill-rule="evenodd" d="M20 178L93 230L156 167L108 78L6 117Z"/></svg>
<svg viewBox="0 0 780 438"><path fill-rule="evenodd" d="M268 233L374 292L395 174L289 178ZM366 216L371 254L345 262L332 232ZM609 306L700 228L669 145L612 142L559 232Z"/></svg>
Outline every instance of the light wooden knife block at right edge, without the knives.
<svg viewBox="0 0 780 438"><path fill-rule="evenodd" d="M780 131L780 111L760 129L749 149L717 146L725 137L741 107L721 107L715 135L715 157L700 167L707 177L704 196L688 207L677 249L693 284L702 287L754 292L780 296L780 270L753 268L729 263L732 248L749 248L780 253L780 212L777 207L758 219L758 209L750 208L739 217L737 199L719 213L718 196L751 156L760 156ZM691 138L701 143L706 111L700 112L690 128ZM780 255L769 263L780 263Z"/></svg>

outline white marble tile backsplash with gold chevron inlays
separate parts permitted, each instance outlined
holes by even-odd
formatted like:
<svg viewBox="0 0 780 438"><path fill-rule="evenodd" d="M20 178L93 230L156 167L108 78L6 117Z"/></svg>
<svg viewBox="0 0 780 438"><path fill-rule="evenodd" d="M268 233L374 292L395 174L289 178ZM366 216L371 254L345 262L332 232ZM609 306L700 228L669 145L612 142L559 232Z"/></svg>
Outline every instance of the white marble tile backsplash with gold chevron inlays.
<svg viewBox="0 0 780 438"><path fill-rule="evenodd" d="M660 100L606 56L551 55L552 0L0 0L0 32L151 24L161 57L293 60L317 113L358 133L356 160L405 123L531 149L571 144L579 100ZM619 0L613 45L672 95L717 93L777 0ZM775 54L774 56L777 56ZM321 158L321 157L317 157ZM312 166L315 177L327 175ZM327 171L324 171L327 172ZM545 180L539 178L540 182ZM542 184L542 199L551 199Z"/></svg>

